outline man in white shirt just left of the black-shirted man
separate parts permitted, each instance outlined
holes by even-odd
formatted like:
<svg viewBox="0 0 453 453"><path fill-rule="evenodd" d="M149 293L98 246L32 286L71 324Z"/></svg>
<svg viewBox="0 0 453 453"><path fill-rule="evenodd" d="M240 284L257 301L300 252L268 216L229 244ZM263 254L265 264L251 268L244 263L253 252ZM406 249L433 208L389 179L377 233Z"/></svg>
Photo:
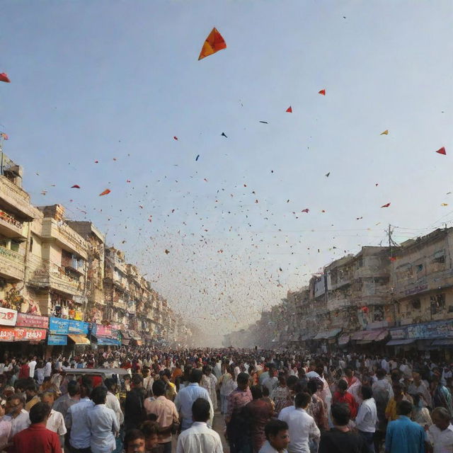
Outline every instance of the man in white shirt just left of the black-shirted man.
<svg viewBox="0 0 453 453"><path fill-rule="evenodd" d="M279 420L286 422L289 427L289 453L310 453L309 439L316 443L319 440L321 432L314 418L306 413L310 401L310 394L300 392L294 398L294 411L287 411L279 416Z"/></svg>

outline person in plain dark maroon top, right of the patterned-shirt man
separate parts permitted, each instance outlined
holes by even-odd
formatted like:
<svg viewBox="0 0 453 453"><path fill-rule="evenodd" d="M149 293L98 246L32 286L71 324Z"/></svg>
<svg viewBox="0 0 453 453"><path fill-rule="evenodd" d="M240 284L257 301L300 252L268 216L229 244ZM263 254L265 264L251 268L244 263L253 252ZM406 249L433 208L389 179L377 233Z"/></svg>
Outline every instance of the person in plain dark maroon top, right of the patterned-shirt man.
<svg viewBox="0 0 453 453"><path fill-rule="evenodd" d="M272 418L274 411L269 401L263 399L263 391L260 386L253 386L250 390L253 401L246 404L244 412L251 435L253 453L258 453L266 440L265 425Z"/></svg>

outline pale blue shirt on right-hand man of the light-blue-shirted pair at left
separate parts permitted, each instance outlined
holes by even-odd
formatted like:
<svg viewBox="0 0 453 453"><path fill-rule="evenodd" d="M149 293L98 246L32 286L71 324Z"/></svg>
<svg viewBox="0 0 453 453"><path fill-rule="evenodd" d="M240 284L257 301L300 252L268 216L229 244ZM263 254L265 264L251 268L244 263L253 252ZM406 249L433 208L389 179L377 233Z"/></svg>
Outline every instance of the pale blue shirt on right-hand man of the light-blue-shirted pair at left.
<svg viewBox="0 0 453 453"><path fill-rule="evenodd" d="M92 453L113 452L116 448L115 434L120 432L120 425L115 412L105 404L96 404L86 413L91 431L90 447Z"/></svg>

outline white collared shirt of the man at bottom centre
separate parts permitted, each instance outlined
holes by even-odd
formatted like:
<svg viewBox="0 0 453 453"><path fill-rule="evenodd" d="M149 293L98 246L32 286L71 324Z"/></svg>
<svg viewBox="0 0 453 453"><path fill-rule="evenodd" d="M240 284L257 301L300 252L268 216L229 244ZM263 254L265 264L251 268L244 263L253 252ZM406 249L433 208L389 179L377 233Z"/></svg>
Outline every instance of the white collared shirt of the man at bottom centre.
<svg viewBox="0 0 453 453"><path fill-rule="evenodd" d="M214 430L203 422L193 422L192 428L180 433L176 453L223 453L222 441Z"/></svg>

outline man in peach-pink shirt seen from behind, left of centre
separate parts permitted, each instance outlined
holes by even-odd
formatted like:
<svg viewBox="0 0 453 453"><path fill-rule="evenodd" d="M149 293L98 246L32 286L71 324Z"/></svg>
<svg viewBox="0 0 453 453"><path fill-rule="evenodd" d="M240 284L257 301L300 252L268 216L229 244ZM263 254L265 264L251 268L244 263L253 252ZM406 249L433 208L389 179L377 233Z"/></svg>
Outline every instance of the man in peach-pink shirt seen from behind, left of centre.
<svg viewBox="0 0 453 453"><path fill-rule="evenodd" d="M164 447L164 453L171 453L171 428L173 423L178 423L178 411L175 403L165 396L165 382L159 381L153 384L153 394L156 398L154 401L146 399L144 408L147 414L154 413L157 415L159 423L159 445Z"/></svg>

